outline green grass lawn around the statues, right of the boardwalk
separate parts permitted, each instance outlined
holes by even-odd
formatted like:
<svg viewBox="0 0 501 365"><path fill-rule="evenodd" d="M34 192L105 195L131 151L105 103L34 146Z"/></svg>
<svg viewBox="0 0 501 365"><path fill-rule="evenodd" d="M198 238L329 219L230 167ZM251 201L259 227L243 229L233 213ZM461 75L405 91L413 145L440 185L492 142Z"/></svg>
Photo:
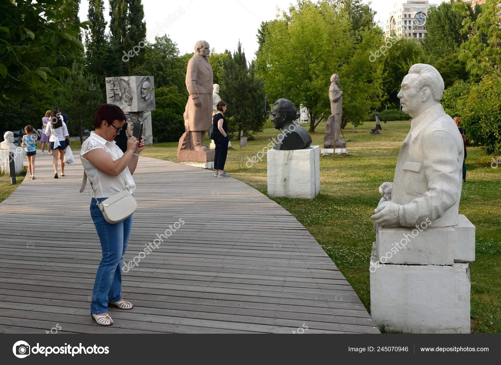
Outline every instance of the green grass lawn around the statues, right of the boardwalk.
<svg viewBox="0 0 501 365"><path fill-rule="evenodd" d="M381 135L370 135L374 122L344 130L347 157L320 157L320 195L314 201L274 199L293 214L315 237L370 310L369 259L375 241L370 220L379 199L378 187L393 181L400 146L409 121L383 124ZM307 125L305 125L308 127ZM313 145L323 145L325 124L312 134ZM242 153L252 158L277 130L266 128L249 141ZM206 139L206 143L209 140ZM239 142L231 141L225 171L267 194L267 160L238 168ZM142 155L177 162L177 142L146 147ZM463 184L460 213L476 226L476 261L471 271L472 332L501 333L501 166L491 168L492 156L480 147L468 147L467 177Z"/></svg>

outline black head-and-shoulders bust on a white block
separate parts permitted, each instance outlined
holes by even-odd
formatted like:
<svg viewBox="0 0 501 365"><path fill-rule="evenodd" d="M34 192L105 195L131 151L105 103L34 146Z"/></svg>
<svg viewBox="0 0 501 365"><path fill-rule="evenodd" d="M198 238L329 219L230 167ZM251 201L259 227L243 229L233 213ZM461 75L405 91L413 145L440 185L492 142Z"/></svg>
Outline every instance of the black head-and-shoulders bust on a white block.
<svg viewBox="0 0 501 365"><path fill-rule="evenodd" d="M312 144L312 137L302 126L296 124L296 108L287 99L279 99L273 107L272 122L280 130L274 149L305 149Z"/></svg>

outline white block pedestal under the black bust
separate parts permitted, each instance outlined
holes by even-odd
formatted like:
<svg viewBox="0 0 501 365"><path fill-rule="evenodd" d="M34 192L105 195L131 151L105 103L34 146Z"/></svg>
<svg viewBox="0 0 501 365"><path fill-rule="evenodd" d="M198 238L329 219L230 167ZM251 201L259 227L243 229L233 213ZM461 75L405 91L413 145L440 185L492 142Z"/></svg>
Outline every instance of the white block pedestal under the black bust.
<svg viewBox="0 0 501 365"><path fill-rule="evenodd" d="M320 193L319 146L282 151L270 149L268 195L313 200Z"/></svg>

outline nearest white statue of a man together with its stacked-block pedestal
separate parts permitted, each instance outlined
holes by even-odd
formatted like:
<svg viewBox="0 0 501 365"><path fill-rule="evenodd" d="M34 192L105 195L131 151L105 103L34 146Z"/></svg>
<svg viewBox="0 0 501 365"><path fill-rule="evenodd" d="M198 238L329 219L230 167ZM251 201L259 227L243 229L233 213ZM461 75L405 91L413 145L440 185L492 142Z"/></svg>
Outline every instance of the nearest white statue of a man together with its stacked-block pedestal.
<svg viewBox="0 0 501 365"><path fill-rule="evenodd" d="M443 91L440 73L416 64L397 95L413 119L393 182L379 187L369 267L371 317L389 329L470 332L475 226L458 215L464 147Z"/></svg>

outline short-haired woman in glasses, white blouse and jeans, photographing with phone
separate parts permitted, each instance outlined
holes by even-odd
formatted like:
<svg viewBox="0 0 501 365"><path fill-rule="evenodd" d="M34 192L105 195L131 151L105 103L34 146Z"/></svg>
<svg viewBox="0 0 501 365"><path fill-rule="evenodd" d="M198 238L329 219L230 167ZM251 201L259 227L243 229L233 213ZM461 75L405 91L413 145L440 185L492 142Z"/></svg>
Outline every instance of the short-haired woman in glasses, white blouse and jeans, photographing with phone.
<svg viewBox="0 0 501 365"><path fill-rule="evenodd" d="M125 254L132 229L132 217L111 224L103 217L97 203L124 190L134 193L136 185L132 174L137 166L139 153L144 148L136 137L127 142L122 152L116 145L117 136L127 117L122 109L113 104L102 104L95 117L95 130L82 144L80 159L91 182L95 198L91 201L91 217L96 227L103 255L97 269L92 293L91 316L101 325L113 324L108 315L108 305L132 309L132 303L122 299L122 256ZM96 201L97 198L97 201Z"/></svg>

